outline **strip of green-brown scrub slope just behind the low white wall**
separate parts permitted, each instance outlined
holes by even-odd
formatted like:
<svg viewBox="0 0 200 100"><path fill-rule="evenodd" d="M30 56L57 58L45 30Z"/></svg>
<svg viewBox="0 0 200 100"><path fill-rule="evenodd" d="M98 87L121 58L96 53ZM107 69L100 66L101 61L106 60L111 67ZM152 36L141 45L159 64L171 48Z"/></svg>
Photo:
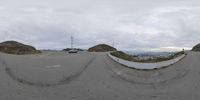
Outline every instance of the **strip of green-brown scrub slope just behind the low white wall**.
<svg viewBox="0 0 200 100"><path fill-rule="evenodd" d="M177 52L177 53L174 53L173 55L169 55L167 57L154 57L154 58L148 58L148 59L141 59L139 56L128 55L122 51L115 51L115 52L111 53L111 55L121 58L121 59L124 59L124 60L134 61L134 62L143 62L143 63L166 61L166 60L174 59L182 54L185 54L185 52L184 51Z"/></svg>

